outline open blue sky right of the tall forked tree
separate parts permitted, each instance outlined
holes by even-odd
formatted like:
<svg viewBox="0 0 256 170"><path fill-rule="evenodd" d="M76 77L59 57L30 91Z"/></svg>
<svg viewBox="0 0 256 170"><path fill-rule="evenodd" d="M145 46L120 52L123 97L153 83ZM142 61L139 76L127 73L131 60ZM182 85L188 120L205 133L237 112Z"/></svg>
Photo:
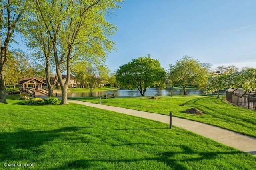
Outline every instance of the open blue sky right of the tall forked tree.
<svg viewBox="0 0 256 170"><path fill-rule="evenodd" d="M108 20L118 27L115 71L151 54L164 69L184 55L211 63L256 68L256 0L126 0Z"/></svg>

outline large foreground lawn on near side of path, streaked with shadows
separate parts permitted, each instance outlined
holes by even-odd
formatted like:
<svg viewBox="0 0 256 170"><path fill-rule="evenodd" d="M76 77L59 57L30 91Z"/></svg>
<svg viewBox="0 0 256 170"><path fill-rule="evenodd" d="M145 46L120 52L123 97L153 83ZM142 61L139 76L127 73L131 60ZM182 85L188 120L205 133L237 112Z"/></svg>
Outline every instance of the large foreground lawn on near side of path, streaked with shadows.
<svg viewBox="0 0 256 170"><path fill-rule="evenodd" d="M0 169L256 169L256 157L168 124L86 107L0 104Z"/></svg>

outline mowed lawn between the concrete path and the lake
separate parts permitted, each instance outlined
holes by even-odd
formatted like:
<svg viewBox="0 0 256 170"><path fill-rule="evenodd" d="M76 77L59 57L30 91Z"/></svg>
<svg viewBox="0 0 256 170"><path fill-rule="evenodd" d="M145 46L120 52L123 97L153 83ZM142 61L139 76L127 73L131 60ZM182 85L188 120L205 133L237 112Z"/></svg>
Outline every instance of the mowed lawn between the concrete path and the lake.
<svg viewBox="0 0 256 170"><path fill-rule="evenodd" d="M165 115L172 112L176 117L199 121L256 137L256 111L228 104L224 101L224 96L221 99L216 99L216 96L173 96L158 100L149 100L149 98L103 98L102 104ZM98 98L72 99L99 103ZM185 110L193 107L202 111L204 115L184 113Z"/></svg>

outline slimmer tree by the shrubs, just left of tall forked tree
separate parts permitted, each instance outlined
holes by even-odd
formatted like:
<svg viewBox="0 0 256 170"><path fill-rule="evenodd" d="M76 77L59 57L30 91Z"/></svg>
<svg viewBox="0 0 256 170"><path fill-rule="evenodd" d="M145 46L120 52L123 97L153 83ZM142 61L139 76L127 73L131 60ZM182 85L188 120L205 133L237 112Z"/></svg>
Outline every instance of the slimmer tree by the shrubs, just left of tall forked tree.
<svg viewBox="0 0 256 170"><path fill-rule="evenodd" d="M56 73L55 76L51 75L55 66L52 41L44 25L37 22L40 16L33 16L33 11L28 14L32 17L26 18L23 23L26 29L23 29L22 33L26 37L27 46L35 50L31 58L36 61L34 64L38 70L37 73L41 74L43 70L48 86L48 96L53 97L53 89L58 77Z"/></svg>

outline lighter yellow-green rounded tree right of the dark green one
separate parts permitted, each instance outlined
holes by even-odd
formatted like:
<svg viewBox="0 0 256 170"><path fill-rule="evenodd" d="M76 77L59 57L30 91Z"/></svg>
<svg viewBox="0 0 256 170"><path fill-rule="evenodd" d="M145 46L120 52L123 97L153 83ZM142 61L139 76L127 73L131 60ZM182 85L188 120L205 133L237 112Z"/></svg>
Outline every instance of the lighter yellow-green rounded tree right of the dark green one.
<svg viewBox="0 0 256 170"><path fill-rule="evenodd" d="M181 86L184 95L187 95L186 87L189 85L205 86L208 80L208 75L208 65L200 63L188 55L177 60L175 65L169 64L169 81Z"/></svg>

